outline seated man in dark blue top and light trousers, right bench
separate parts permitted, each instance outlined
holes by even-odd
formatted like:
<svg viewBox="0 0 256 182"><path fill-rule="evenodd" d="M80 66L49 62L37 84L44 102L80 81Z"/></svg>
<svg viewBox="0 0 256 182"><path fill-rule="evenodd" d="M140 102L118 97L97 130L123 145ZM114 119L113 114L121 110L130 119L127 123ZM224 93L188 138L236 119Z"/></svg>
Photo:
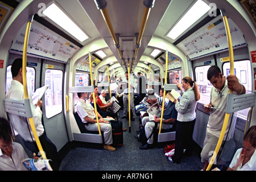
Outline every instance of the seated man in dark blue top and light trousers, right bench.
<svg viewBox="0 0 256 182"><path fill-rule="evenodd" d="M148 91L148 101L150 104L155 104L158 102L160 106L163 105L163 99L156 97L154 94L154 91L149 90ZM162 129L171 129L174 122L176 121L177 118L177 111L175 109L175 103L168 101L165 101L164 104L164 113L163 113L163 121L162 121ZM155 121L150 121L149 117L143 117L142 119L142 125L145 126L145 134L146 137L150 137L151 133L153 132L155 123L158 125L157 129L160 127L160 119L155 119ZM142 150L154 148L154 135L150 139L147 140L147 143L140 146Z"/></svg>

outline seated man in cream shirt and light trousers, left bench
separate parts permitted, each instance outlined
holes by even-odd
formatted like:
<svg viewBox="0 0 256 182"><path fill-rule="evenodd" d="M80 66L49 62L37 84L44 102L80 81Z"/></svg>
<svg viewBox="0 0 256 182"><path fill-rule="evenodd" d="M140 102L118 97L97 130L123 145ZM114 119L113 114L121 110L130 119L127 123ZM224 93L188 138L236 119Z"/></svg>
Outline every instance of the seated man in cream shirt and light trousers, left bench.
<svg viewBox="0 0 256 182"><path fill-rule="evenodd" d="M88 131L98 131L96 113L92 105L86 102L88 93L77 93L79 97L79 102L77 102L77 114L81 118L82 122L85 123L85 129ZM100 129L104 135L104 148L109 151L115 151L115 148L111 146L113 143L112 138L112 127L109 124L109 118L102 118L102 116L97 113L98 121L100 122Z"/></svg>

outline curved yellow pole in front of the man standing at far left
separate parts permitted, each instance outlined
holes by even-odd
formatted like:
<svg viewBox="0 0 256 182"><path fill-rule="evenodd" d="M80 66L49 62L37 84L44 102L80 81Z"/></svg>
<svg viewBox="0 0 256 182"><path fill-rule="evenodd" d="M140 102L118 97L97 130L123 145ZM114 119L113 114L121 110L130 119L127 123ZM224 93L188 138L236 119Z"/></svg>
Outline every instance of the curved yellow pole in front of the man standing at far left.
<svg viewBox="0 0 256 182"><path fill-rule="evenodd" d="M34 17L34 15L31 15L30 19L27 22L27 28L26 28L25 38L24 38L24 45L23 45L22 77L23 77L23 89L24 89L24 99L25 100L28 99L27 71L26 71L26 67L27 67L27 44L28 44L28 38L30 36L30 27L31 27L33 17ZM38 134L36 133L34 119L33 118L28 118L28 120L30 121L31 130L32 130L32 133L34 135L35 142L36 142L36 145L38 146L40 154L42 155L43 159L47 159L46 154L44 153L43 147L42 147L42 145L40 143L40 140L38 138Z"/></svg>

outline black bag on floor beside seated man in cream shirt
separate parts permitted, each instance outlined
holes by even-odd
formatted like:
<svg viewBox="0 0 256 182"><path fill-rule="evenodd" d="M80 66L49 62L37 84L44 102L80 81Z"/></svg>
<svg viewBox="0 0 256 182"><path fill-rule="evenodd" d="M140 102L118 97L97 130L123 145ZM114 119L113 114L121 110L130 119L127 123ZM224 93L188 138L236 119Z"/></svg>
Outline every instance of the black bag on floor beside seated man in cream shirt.
<svg viewBox="0 0 256 182"><path fill-rule="evenodd" d="M110 121L112 126L113 146L123 145L123 123L121 121Z"/></svg>

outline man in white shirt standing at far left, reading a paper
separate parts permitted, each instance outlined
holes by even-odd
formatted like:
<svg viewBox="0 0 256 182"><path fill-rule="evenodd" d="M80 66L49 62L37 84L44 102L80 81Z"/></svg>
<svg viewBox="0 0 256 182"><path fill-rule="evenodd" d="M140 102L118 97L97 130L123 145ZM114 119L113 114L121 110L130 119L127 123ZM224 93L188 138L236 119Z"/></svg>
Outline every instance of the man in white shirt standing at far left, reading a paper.
<svg viewBox="0 0 256 182"><path fill-rule="evenodd" d="M22 59L15 59L13 64L11 65L11 74L13 76L13 81L11 81L11 86L6 93L6 98L14 99L14 100L24 100L24 90L23 90L23 70L22 70ZM30 93L28 93L28 97L30 98L31 106L32 100ZM47 159L52 159L51 167L53 171L59 170L59 166L61 163L61 159L57 154L57 148L55 144L51 142L49 138L47 138L46 133L44 131L44 127L42 125L42 101L38 100L36 103L36 107L32 107L33 120L35 123L36 133L38 134L40 143L42 144L43 150L46 153ZM38 154L39 149L36 146L34 135L32 134L30 122L25 117L20 117L16 114L9 113L10 121L14 127L14 130L18 132L20 137L23 138L24 145L35 154ZM28 130L29 127L29 130ZM31 135L32 138L31 138Z"/></svg>

